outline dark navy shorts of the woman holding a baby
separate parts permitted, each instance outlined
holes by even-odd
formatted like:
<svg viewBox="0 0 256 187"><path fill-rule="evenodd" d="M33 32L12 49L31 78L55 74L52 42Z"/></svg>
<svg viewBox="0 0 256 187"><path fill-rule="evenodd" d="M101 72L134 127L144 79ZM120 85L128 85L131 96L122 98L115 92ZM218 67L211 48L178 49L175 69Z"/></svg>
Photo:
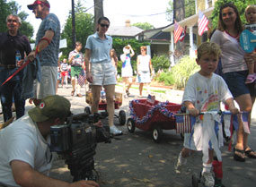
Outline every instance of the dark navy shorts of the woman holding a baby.
<svg viewBox="0 0 256 187"><path fill-rule="evenodd" d="M231 91L234 98L237 98L243 94L251 94L255 97L254 85L245 84L248 71L241 72L225 72L223 74L223 79L227 84L228 89ZM249 89L250 87L250 89Z"/></svg>

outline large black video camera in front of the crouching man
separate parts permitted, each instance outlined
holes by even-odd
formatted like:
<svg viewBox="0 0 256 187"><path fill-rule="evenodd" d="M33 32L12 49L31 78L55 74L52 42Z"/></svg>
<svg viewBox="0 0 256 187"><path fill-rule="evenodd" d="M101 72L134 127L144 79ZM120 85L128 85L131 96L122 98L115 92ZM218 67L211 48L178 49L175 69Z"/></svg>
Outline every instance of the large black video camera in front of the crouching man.
<svg viewBox="0 0 256 187"><path fill-rule="evenodd" d="M110 143L110 127L94 125L100 117L98 113L71 115L66 123L50 127L50 150L65 159L73 182L97 181L93 174L97 143Z"/></svg>

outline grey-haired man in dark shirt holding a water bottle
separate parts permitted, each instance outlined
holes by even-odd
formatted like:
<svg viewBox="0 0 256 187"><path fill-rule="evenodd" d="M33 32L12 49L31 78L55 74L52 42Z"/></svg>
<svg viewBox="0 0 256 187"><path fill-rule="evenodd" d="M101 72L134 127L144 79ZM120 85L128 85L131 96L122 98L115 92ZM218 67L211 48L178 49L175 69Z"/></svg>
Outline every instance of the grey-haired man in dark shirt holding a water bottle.
<svg viewBox="0 0 256 187"><path fill-rule="evenodd" d="M22 64L22 61L18 60L24 59L25 53L28 55L31 52L29 39L18 32L21 25L21 18L10 14L6 18L7 32L0 33L0 98L4 122L12 117L13 98L16 118L22 117L25 111L25 100L21 97L23 72L17 73L13 79L1 86Z"/></svg>

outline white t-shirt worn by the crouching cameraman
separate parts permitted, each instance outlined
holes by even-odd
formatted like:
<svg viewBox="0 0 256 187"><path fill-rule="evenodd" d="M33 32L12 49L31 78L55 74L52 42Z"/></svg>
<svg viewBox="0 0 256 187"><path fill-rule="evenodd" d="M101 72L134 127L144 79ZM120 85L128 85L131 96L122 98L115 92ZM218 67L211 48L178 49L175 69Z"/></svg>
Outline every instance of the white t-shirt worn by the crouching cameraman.
<svg viewBox="0 0 256 187"><path fill-rule="evenodd" d="M11 123L0 131L0 183L19 186L14 182L10 163L21 160L41 174L49 175L52 156L49 139L45 140L29 115Z"/></svg>

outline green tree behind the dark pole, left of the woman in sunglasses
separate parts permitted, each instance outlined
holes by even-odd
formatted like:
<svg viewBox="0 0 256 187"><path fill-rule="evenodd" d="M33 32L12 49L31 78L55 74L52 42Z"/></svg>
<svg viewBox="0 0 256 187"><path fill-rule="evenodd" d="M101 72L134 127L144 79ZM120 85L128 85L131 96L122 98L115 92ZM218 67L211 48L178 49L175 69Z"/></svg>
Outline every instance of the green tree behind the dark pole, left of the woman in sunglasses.
<svg viewBox="0 0 256 187"><path fill-rule="evenodd" d="M93 34L93 15L91 13L84 13L86 8L82 4L75 5L75 35L76 41L80 41L84 46L86 39L89 35ZM61 33L61 38L66 38L67 47L60 49L63 52L64 57L68 57L70 51L74 50L72 47L72 15L69 13L69 16L66 20L64 30ZM84 52L84 47L82 48Z"/></svg>

